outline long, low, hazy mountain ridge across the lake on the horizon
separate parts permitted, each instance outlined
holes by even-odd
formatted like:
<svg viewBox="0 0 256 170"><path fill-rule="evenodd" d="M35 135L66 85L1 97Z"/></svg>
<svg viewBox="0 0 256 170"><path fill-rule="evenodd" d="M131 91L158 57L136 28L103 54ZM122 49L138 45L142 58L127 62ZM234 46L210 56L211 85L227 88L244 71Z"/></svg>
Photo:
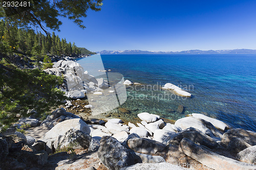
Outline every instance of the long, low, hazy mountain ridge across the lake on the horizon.
<svg viewBox="0 0 256 170"><path fill-rule="evenodd" d="M250 49L236 49L236 50L188 50L181 52L150 52L150 51L141 51L141 50L115 50L115 51L106 51L96 52L100 54L256 54L256 50Z"/></svg>

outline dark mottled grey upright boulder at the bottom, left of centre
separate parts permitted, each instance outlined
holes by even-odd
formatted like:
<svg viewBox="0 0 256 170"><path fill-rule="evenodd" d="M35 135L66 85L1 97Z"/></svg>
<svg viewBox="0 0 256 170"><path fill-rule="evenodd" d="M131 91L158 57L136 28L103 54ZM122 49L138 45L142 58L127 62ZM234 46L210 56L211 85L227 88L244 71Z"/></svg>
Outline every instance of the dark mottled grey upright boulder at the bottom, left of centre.
<svg viewBox="0 0 256 170"><path fill-rule="evenodd" d="M109 169L117 170L136 163L134 151L126 149L117 139L111 136L101 138L98 157L103 165Z"/></svg>

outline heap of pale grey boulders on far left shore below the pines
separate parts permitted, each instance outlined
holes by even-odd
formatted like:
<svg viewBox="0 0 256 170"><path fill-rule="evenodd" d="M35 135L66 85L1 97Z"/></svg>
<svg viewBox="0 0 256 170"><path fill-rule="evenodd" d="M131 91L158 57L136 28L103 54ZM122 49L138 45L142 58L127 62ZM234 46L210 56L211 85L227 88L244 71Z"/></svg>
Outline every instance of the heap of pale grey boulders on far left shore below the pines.
<svg viewBox="0 0 256 170"><path fill-rule="evenodd" d="M54 62L53 68L45 69L48 74L62 76L65 83L59 88L72 99L82 99L85 93L102 94L103 89L109 88L109 83L103 78L96 79L84 71L83 67L75 61L59 60Z"/></svg>

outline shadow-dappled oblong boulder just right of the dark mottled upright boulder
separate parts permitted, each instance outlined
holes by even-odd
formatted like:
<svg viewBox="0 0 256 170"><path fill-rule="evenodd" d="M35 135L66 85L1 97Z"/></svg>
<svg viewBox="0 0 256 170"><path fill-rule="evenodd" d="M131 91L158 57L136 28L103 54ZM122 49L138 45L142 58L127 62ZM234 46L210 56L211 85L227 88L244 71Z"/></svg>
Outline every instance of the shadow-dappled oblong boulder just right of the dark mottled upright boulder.
<svg viewBox="0 0 256 170"><path fill-rule="evenodd" d="M165 144L147 139L147 138L132 138L127 141L127 145L130 149L135 152L153 155L157 152L161 152L166 147Z"/></svg>

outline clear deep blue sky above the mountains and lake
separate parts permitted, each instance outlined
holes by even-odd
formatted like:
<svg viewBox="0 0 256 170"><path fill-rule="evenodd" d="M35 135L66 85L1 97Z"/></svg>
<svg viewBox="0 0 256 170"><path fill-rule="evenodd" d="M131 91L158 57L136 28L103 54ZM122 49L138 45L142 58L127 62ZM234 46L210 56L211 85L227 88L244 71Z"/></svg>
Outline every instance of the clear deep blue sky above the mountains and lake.
<svg viewBox="0 0 256 170"><path fill-rule="evenodd" d="M255 0L105 0L84 30L61 20L60 38L94 52L256 49Z"/></svg>

